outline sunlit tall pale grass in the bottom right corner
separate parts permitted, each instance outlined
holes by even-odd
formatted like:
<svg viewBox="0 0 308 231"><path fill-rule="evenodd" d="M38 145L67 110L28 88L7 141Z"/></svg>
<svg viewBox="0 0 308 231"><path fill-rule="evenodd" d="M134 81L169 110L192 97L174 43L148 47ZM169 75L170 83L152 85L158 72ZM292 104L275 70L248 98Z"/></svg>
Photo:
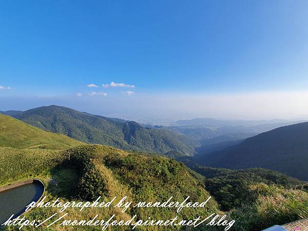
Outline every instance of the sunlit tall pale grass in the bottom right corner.
<svg viewBox="0 0 308 231"><path fill-rule="evenodd" d="M239 221L233 230L259 231L273 225L308 218L308 193L300 189L286 189L263 183L249 188L246 203L229 212Z"/></svg>

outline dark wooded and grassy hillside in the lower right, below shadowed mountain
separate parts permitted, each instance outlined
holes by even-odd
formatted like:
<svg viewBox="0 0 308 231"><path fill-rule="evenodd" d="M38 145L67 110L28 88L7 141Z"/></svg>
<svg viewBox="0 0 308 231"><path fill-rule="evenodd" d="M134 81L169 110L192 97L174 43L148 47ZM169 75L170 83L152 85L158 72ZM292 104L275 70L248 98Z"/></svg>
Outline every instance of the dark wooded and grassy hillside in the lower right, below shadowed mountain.
<svg viewBox="0 0 308 231"><path fill-rule="evenodd" d="M237 221L231 230L260 231L308 218L308 185L303 181L263 168L190 168L199 172L191 174L204 182L221 209Z"/></svg>

